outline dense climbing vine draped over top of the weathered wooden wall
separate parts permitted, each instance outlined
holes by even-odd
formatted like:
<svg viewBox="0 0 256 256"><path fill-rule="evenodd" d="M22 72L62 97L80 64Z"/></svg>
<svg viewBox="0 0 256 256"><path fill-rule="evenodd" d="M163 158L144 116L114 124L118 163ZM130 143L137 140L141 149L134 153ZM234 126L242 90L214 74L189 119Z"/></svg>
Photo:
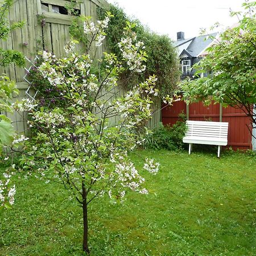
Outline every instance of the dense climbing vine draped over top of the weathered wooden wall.
<svg viewBox="0 0 256 256"><path fill-rule="evenodd" d="M137 39L144 42L144 51L147 52L146 71L142 74L134 74L128 70L123 73L121 77L122 82L126 83L127 77L132 77L129 83L126 83L128 88L131 88L147 77L156 75L158 77L156 86L159 90L159 96L172 95L177 81L179 81L180 72L179 59L175 47L172 46L171 39L166 35L158 35L150 31L139 20L129 19L119 7L110 5L108 11L114 16L110 20L108 30L106 31L108 34L107 46L110 51L115 53L118 58L121 58L118 42L123 38L123 28L127 26L128 21L130 24L136 24L133 30L137 34ZM102 16L104 15L102 10L99 10L98 13Z"/></svg>

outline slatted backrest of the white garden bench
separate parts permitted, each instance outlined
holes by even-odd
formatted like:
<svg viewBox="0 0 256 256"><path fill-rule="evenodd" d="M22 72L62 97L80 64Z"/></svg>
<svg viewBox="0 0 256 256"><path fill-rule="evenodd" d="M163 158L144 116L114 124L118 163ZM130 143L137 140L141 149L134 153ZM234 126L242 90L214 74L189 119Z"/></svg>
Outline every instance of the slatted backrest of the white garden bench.
<svg viewBox="0 0 256 256"><path fill-rule="evenodd" d="M187 137L228 138L228 122L186 121Z"/></svg>

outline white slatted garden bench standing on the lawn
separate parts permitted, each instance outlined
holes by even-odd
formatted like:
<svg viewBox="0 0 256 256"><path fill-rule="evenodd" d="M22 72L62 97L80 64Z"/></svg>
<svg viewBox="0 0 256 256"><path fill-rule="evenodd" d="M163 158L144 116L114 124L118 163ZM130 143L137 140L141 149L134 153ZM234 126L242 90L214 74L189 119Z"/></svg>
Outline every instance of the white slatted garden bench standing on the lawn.
<svg viewBox="0 0 256 256"><path fill-rule="evenodd" d="M192 144L208 144L218 146L218 158L221 146L228 144L227 122L187 121L187 132L183 138L184 143L189 143L188 154L191 154Z"/></svg>

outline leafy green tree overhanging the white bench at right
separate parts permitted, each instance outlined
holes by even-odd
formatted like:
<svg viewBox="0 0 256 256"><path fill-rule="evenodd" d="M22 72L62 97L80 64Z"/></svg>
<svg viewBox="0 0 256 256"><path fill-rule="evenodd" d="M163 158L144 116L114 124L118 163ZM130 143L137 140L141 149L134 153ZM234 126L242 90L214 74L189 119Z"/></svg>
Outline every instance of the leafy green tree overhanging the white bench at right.
<svg viewBox="0 0 256 256"><path fill-rule="evenodd" d="M256 98L256 2L243 4L246 13L237 27L229 28L208 48L208 55L193 66L200 73L212 73L184 81L181 90L185 100L220 102L239 106L256 127L253 104ZM239 15L239 13L231 13Z"/></svg>

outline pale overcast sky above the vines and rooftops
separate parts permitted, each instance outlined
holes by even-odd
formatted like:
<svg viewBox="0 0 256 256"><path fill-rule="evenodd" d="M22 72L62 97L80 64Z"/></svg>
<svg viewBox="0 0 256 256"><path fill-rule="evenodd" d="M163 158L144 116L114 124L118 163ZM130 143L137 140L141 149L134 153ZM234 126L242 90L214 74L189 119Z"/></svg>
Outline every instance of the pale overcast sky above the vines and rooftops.
<svg viewBox="0 0 256 256"><path fill-rule="evenodd" d="M138 18L158 34L166 34L176 40L179 31L185 38L200 34L201 28L209 28L218 22L223 30L238 21L230 18L229 10L241 11L244 0L108 0L117 3L131 17Z"/></svg>

